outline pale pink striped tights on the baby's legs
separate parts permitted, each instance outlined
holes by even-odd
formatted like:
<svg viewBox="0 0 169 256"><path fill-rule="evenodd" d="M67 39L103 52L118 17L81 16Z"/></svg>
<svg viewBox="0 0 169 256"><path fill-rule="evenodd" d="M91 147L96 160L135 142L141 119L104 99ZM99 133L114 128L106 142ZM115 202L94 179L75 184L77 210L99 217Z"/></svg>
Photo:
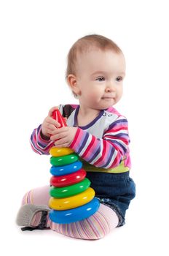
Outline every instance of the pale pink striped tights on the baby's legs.
<svg viewBox="0 0 169 256"><path fill-rule="evenodd" d="M45 186L29 191L23 197L22 204L48 206L48 201L50 199L49 189L50 186ZM38 226L41 219L42 211L34 214L34 217L31 217L31 227ZM109 208L109 206L100 204L98 211L93 214L93 216L80 222L56 224L51 222L49 216L47 215L46 227L50 227L52 230L58 233L73 238L99 239L103 238L107 233L109 233L110 230L117 227L118 222L119 218L117 217L117 214L111 208Z"/></svg>

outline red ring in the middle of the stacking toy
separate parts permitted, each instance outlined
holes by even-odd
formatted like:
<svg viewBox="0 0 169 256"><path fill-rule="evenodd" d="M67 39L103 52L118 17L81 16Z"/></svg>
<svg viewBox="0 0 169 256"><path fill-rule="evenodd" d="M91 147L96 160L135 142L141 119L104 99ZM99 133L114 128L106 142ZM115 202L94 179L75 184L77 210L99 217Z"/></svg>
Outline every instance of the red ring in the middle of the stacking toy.
<svg viewBox="0 0 169 256"><path fill-rule="evenodd" d="M50 185L53 187L66 187L76 184L82 181L86 176L86 171L84 169L78 170L76 173L71 173L63 176L52 176L50 178Z"/></svg>

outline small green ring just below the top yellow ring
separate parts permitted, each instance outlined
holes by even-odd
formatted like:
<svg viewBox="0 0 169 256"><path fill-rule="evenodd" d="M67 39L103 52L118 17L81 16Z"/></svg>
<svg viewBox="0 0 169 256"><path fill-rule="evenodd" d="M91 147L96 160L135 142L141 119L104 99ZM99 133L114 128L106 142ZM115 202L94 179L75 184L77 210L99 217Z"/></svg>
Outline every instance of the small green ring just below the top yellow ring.
<svg viewBox="0 0 169 256"><path fill-rule="evenodd" d="M63 157L50 157L51 165L60 166L60 165L68 165L72 162L76 162L79 157L76 154L68 154Z"/></svg>

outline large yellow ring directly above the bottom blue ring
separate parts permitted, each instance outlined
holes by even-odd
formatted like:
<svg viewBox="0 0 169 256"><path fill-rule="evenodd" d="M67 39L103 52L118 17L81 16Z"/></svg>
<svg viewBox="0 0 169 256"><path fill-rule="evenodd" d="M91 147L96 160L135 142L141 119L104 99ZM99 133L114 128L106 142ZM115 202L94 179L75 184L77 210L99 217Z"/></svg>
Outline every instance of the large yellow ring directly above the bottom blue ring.
<svg viewBox="0 0 169 256"><path fill-rule="evenodd" d="M95 196L95 190L89 187L84 192L74 195L72 197L55 198L50 197L49 206L50 208L58 211L68 210L83 206L93 200Z"/></svg>

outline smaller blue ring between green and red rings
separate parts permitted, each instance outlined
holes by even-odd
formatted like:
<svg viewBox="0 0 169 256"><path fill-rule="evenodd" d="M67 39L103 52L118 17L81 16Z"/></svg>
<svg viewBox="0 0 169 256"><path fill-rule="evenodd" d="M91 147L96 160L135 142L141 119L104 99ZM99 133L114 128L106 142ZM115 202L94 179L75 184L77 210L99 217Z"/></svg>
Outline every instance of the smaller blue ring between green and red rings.
<svg viewBox="0 0 169 256"><path fill-rule="evenodd" d="M71 165L52 166L50 173L52 176L62 176L70 173L75 173L82 168L82 162L76 161Z"/></svg>

